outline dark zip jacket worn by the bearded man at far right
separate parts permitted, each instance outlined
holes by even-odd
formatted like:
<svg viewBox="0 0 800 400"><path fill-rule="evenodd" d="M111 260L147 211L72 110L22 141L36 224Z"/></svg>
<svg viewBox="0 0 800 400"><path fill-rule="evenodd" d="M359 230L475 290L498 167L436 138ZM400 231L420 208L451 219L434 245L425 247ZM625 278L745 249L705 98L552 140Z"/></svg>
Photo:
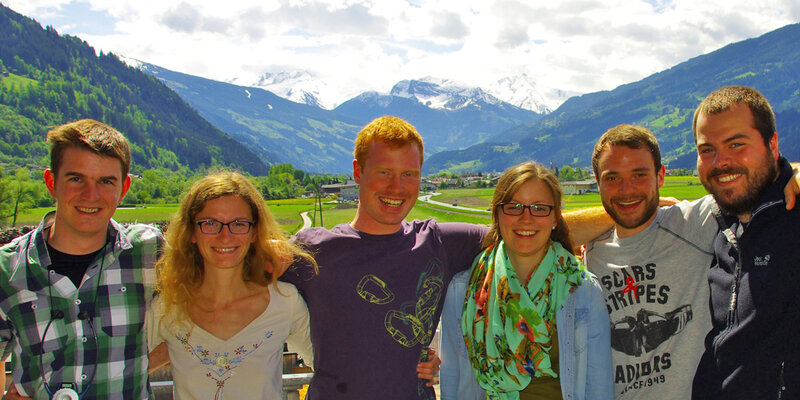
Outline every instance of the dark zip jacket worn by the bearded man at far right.
<svg viewBox="0 0 800 400"><path fill-rule="evenodd" d="M778 168L749 223L715 210L712 328L695 400L800 399L800 205L786 210L792 168L783 157Z"/></svg>

